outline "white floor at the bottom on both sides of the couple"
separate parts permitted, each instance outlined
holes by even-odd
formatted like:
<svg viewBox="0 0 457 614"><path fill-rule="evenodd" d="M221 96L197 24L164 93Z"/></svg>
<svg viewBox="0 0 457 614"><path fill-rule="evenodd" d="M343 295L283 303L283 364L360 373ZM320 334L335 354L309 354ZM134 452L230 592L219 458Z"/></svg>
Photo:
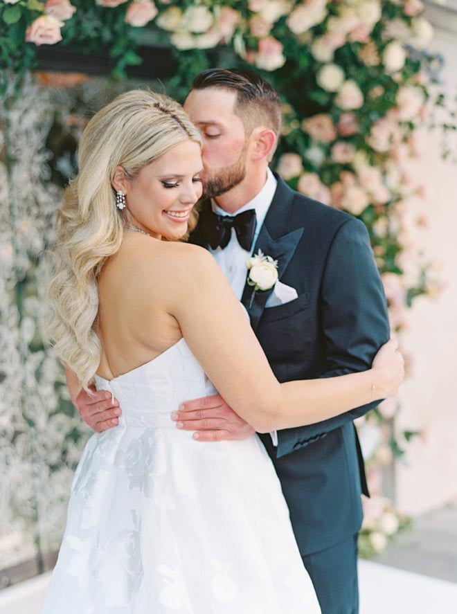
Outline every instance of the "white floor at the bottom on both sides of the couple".
<svg viewBox="0 0 457 614"><path fill-rule="evenodd" d="M50 574L0 591L0 614L39 614ZM457 584L360 561L360 614L457 613ZM204 613L199 613L204 614Z"/></svg>

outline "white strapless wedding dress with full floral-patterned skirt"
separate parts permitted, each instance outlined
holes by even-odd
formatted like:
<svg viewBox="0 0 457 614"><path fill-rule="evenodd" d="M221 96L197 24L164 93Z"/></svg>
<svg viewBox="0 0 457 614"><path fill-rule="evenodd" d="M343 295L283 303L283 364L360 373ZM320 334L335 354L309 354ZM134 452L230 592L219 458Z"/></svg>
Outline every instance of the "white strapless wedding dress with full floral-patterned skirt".
<svg viewBox="0 0 457 614"><path fill-rule="evenodd" d="M186 341L98 389L123 415L71 487L45 614L319 614L256 435L199 443L170 417L215 392Z"/></svg>

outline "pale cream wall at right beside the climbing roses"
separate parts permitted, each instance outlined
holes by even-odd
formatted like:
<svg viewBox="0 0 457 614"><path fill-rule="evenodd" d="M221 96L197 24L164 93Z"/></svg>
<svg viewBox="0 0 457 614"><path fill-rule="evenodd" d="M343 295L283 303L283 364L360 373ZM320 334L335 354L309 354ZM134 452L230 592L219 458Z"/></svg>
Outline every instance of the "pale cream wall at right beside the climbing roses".
<svg viewBox="0 0 457 614"><path fill-rule="evenodd" d="M457 95L457 13L429 10L436 27L431 51L445 57L442 80L449 99ZM454 103L455 108L455 103ZM413 168L427 178L427 197L417 213L427 219L415 231L424 252L438 264L445 288L436 300L419 297L409 311L404 349L411 354L411 377L404 383L397 428L423 431L397 461L395 493L398 507L421 514L457 498L457 164L443 163L442 135L422 134L421 159ZM457 156L456 138L450 138ZM411 207L412 209L412 207Z"/></svg>

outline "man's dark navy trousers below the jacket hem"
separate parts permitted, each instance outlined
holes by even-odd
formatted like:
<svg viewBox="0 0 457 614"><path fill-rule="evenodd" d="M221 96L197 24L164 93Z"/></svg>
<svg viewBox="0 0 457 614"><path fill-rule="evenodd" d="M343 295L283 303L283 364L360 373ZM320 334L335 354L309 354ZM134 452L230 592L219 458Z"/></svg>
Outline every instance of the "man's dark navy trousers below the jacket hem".
<svg viewBox="0 0 457 614"><path fill-rule="evenodd" d="M307 554L303 558L322 614L358 614L357 538Z"/></svg>

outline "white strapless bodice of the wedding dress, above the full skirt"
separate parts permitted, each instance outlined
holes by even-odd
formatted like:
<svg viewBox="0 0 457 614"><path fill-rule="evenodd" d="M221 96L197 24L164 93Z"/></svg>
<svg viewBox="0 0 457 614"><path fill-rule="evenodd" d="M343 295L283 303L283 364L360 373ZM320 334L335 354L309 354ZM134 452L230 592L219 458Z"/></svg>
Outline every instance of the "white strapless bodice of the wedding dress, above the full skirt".
<svg viewBox="0 0 457 614"><path fill-rule="evenodd" d="M170 413L182 401L215 394L182 337L151 361L108 380L95 377L97 390L109 390L122 408L125 426L176 428Z"/></svg>

